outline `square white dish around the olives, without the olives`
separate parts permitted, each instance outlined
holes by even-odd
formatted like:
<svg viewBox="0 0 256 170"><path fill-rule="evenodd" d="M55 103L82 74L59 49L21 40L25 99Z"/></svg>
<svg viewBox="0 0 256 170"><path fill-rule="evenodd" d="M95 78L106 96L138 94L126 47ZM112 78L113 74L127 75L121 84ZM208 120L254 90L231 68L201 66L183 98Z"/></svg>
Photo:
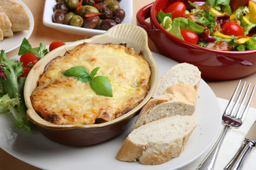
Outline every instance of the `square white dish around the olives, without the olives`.
<svg viewBox="0 0 256 170"><path fill-rule="evenodd" d="M56 4L55 0L46 0L45 8L43 11L43 24L50 28L55 28L64 33L75 34L75 35L86 35L93 36L105 33L106 30L97 30L89 28L80 28L75 26L68 26L60 23L53 23L53 6ZM125 18L122 23L132 23L132 0L122 0L119 2L120 7L125 11Z"/></svg>

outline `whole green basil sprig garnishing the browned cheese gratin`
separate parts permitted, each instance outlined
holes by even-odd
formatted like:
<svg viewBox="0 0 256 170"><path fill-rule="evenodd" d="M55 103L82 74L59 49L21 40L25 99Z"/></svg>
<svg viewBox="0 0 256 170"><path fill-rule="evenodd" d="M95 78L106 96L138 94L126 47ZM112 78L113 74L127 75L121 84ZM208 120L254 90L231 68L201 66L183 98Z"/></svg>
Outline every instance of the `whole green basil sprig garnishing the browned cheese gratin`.
<svg viewBox="0 0 256 170"><path fill-rule="evenodd" d="M89 72L88 69L82 66L71 67L70 69L65 70L62 74L66 77L73 77L82 82L90 82L90 86L101 96L112 97L112 86L110 84L110 79L105 76L97 76L97 71L100 67L96 67Z"/></svg>

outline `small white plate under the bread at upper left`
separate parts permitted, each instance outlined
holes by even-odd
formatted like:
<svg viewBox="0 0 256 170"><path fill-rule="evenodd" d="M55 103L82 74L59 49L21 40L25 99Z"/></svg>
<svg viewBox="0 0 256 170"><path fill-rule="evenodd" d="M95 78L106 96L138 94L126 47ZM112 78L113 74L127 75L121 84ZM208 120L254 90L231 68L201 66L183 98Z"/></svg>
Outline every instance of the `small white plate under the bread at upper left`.
<svg viewBox="0 0 256 170"><path fill-rule="evenodd" d="M28 6L26 6L21 0L18 0L18 3L21 4L24 7L26 13L28 13L28 17L31 25L29 30L15 32L13 37L4 38L4 40L0 41L0 50L5 50L5 52L10 52L11 50L16 49L16 47L19 47L21 45L23 38L28 39L31 33L33 32L33 27L34 27L33 14L29 10Z"/></svg>

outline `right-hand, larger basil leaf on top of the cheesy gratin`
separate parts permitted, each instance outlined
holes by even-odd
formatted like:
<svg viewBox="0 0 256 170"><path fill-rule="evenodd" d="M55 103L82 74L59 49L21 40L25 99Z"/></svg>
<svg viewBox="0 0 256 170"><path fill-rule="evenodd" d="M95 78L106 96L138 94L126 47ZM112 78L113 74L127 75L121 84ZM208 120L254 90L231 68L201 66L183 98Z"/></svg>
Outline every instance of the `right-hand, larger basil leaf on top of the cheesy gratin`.
<svg viewBox="0 0 256 170"><path fill-rule="evenodd" d="M112 86L110 84L110 79L104 76L94 77L90 81L90 86L96 92L96 94L102 96L112 97Z"/></svg>

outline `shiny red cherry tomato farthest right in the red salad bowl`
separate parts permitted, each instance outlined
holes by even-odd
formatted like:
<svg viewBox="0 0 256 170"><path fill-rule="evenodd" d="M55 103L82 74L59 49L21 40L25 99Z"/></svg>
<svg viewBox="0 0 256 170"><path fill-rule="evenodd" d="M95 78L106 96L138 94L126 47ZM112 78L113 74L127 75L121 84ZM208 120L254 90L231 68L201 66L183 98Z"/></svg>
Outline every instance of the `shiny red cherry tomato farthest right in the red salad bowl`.
<svg viewBox="0 0 256 170"><path fill-rule="evenodd" d="M223 27L223 33L225 35L235 35L235 36L243 36L245 33L242 30L242 27L238 25L238 23L234 22L227 22L224 23Z"/></svg>

